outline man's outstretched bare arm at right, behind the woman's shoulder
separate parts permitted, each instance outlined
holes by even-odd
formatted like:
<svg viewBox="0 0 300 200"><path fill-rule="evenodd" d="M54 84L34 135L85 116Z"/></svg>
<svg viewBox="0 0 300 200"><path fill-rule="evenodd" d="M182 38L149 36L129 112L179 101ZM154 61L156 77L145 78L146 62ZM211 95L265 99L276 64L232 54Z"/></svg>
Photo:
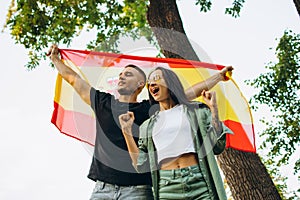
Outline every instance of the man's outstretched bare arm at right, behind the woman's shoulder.
<svg viewBox="0 0 300 200"><path fill-rule="evenodd" d="M214 74L213 76L209 77L208 79L201 81L199 83L196 83L195 85L189 87L185 90L185 94L189 100L193 100L199 96L201 96L201 93L203 90L210 90L213 88L216 84L218 84L220 81L225 81L226 79L226 73L231 72L233 70L232 66L224 67L219 73Z"/></svg>

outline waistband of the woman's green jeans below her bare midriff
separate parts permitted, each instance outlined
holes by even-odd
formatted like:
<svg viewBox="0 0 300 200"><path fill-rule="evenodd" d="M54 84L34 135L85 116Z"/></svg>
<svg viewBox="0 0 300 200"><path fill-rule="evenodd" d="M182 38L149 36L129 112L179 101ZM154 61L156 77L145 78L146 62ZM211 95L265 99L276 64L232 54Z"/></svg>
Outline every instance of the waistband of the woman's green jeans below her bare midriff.
<svg viewBox="0 0 300 200"><path fill-rule="evenodd" d="M199 172L201 172L199 166L193 165L193 166L180 168L180 169L159 170L159 175L160 175L160 177L178 178L178 177L184 177L187 175L196 174Z"/></svg>

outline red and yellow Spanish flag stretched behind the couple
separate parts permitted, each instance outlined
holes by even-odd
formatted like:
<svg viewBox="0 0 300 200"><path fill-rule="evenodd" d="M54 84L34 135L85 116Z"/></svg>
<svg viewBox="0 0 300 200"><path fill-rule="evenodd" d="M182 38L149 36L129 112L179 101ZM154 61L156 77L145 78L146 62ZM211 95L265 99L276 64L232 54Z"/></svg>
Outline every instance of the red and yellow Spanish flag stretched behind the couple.
<svg viewBox="0 0 300 200"><path fill-rule="evenodd" d="M65 64L71 67L94 88L118 97L118 75L124 66L133 64L141 67L146 74L157 66L174 70L185 88L204 81L224 66L182 59L152 58L95 51L60 49ZM217 93L220 119L234 134L227 134L229 148L256 152L255 134L251 110L234 80L218 83L212 90ZM148 98L146 89L139 101ZM196 99L201 101L201 98ZM95 115L75 90L60 75L57 77L54 111L51 122L61 133L94 145L96 136Z"/></svg>

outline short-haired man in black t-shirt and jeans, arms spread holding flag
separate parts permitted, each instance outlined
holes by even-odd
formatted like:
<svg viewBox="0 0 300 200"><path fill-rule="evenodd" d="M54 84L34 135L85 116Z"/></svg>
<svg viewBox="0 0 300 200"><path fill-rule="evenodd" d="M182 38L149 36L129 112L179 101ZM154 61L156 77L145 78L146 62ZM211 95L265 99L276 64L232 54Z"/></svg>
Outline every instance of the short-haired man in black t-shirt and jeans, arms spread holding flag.
<svg viewBox="0 0 300 200"><path fill-rule="evenodd" d="M134 65L126 66L119 74L118 99L100 92L83 80L59 58L59 50L52 45L47 54L62 78L79 94L95 112L96 141L88 177L96 181L91 200L96 199L153 199L150 173L138 174L132 166L127 145L120 129L118 117L131 111L135 115L133 133L138 140L138 128L149 118L148 100L137 102L146 83L145 73ZM200 96L202 90L212 88L232 67L226 67L205 82L197 83L186 91L189 99Z"/></svg>

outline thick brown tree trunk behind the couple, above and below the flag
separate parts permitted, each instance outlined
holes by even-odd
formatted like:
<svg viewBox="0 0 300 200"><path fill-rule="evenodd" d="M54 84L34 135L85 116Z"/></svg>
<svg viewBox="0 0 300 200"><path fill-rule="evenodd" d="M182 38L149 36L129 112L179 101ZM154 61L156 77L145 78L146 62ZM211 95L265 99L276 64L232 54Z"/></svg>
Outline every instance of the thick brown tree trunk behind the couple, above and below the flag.
<svg viewBox="0 0 300 200"><path fill-rule="evenodd" d="M176 0L150 0L147 20L167 58L199 61L186 37ZM257 154L226 149L218 160L234 199L281 199Z"/></svg>

